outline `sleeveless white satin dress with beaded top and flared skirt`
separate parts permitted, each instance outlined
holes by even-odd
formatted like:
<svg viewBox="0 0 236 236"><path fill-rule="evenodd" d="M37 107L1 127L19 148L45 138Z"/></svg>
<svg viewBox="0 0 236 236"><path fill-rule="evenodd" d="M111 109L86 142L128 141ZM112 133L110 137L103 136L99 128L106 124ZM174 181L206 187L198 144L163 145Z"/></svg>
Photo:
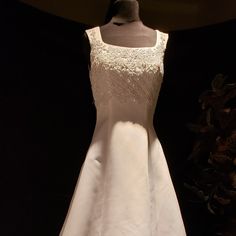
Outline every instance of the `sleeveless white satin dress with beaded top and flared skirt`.
<svg viewBox="0 0 236 236"><path fill-rule="evenodd" d="M86 33L97 122L60 236L184 236L153 127L168 34L133 48L103 42L99 27Z"/></svg>

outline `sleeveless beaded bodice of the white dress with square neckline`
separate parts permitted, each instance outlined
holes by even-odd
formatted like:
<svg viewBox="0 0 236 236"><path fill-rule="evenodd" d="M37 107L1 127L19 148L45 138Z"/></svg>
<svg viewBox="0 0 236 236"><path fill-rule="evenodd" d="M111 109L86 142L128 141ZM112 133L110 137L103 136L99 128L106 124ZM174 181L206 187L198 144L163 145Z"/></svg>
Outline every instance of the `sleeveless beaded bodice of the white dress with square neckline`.
<svg viewBox="0 0 236 236"><path fill-rule="evenodd" d="M103 42L100 28L86 30L91 46L90 80L98 109L115 101L154 107L163 79L168 34L156 30L153 47L123 47Z"/></svg>

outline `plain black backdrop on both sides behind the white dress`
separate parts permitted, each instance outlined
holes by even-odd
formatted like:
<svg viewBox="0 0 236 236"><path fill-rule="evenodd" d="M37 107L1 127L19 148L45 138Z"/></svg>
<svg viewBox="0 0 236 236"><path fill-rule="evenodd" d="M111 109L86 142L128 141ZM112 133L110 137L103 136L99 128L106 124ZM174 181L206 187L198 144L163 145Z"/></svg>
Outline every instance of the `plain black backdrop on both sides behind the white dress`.
<svg viewBox="0 0 236 236"><path fill-rule="evenodd" d="M58 235L96 122L81 36L91 26L19 3L1 14L1 211L8 235ZM190 236L210 235L204 206L188 201L186 123L217 73L235 76L236 21L170 32L155 114Z"/></svg>

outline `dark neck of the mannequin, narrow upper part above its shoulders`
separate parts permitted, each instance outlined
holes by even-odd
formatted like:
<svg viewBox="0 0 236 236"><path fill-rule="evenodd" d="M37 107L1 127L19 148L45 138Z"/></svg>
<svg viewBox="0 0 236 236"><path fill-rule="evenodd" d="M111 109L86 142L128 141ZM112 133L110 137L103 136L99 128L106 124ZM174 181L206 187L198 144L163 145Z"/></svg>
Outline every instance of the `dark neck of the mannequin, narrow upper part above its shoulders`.
<svg viewBox="0 0 236 236"><path fill-rule="evenodd" d="M117 0L113 5L113 24L124 24L140 21L139 4L136 0Z"/></svg>

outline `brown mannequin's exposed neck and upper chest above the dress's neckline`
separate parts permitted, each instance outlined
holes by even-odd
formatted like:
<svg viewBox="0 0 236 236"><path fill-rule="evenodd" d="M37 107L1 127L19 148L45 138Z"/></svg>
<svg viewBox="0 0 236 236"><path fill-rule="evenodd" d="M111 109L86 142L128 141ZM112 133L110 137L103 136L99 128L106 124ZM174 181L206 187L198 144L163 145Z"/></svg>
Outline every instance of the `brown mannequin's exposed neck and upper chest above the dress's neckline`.
<svg viewBox="0 0 236 236"><path fill-rule="evenodd" d="M140 20L137 0L116 0L111 10L112 19L100 27L104 43L121 47L155 45L156 32ZM84 53L90 67L90 45L86 34L84 35Z"/></svg>

